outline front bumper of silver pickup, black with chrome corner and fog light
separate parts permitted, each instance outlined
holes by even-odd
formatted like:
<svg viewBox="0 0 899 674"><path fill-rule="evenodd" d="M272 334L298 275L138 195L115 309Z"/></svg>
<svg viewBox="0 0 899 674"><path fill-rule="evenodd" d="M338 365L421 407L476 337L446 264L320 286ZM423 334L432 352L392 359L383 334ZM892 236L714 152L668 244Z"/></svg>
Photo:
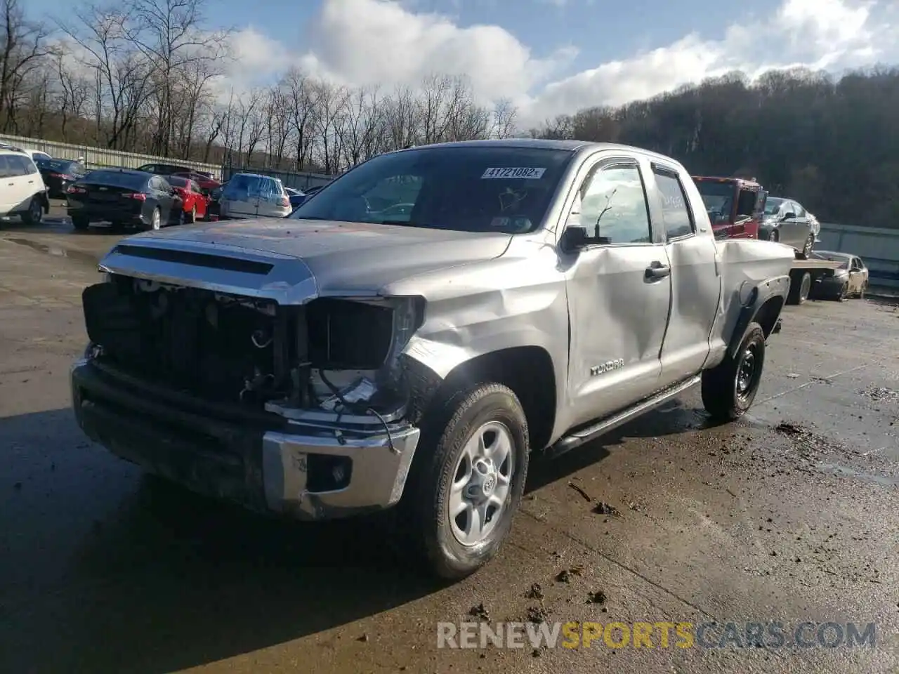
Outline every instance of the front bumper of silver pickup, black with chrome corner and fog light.
<svg viewBox="0 0 899 674"><path fill-rule="evenodd" d="M405 422L312 426L263 412L217 414L87 359L70 383L78 425L116 456L193 492L294 519L395 505L420 435Z"/></svg>

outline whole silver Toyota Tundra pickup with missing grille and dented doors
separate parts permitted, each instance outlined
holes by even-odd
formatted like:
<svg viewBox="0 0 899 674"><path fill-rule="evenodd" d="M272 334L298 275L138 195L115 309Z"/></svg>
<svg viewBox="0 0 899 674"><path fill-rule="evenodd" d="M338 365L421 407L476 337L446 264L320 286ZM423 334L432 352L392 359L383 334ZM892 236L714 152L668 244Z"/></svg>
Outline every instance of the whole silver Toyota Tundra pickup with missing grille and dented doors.
<svg viewBox="0 0 899 674"><path fill-rule="evenodd" d="M503 140L379 155L287 219L124 239L84 291L85 433L298 519L394 509L432 572L497 551L531 450L759 386L793 252L715 241L681 164Z"/></svg>

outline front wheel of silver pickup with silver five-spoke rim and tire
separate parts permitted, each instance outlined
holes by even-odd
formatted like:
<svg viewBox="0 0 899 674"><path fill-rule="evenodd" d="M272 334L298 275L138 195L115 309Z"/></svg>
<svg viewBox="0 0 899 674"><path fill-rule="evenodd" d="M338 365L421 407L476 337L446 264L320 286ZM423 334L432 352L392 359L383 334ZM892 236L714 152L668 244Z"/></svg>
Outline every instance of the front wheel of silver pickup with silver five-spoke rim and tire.
<svg viewBox="0 0 899 674"><path fill-rule="evenodd" d="M516 395L500 384L458 389L442 400L445 403L425 415L400 510L405 531L413 537L428 571L458 581L493 558L512 527L528 474L528 421ZM479 435L486 440L484 449L476 440ZM500 447L503 438L509 447L507 454L496 459L502 458L502 463L491 466L477 460L478 454L485 457L491 448ZM474 459L468 453L472 447ZM452 488L454 483L462 485L458 491ZM477 497L472 496L475 491ZM491 517L486 499L503 495L503 505ZM449 509L454 503L467 510L452 519ZM469 519L475 509L481 515ZM500 519L494 519L497 512ZM482 518L491 526L480 536L464 540L465 526Z"/></svg>

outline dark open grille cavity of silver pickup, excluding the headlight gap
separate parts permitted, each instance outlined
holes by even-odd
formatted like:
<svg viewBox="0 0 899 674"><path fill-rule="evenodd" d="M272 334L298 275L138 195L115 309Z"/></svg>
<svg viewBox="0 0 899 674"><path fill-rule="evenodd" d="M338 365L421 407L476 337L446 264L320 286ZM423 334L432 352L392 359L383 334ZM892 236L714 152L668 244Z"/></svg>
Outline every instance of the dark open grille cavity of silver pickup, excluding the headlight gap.
<svg viewBox="0 0 899 674"><path fill-rule="evenodd" d="M104 359L213 401L262 404L286 393L290 330L277 306L263 306L266 314L246 298L135 285L85 288L87 333Z"/></svg>

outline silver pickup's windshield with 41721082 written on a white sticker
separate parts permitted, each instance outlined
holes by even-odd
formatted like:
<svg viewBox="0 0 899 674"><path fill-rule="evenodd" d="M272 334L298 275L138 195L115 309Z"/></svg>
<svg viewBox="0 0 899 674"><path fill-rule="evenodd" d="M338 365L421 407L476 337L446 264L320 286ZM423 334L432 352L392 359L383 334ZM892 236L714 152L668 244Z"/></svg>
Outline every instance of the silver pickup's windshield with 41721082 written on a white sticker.
<svg viewBox="0 0 899 674"><path fill-rule="evenodd" d="M537 229L572 153L436 146L379 155L289 217L521 234Z"/></svg>

